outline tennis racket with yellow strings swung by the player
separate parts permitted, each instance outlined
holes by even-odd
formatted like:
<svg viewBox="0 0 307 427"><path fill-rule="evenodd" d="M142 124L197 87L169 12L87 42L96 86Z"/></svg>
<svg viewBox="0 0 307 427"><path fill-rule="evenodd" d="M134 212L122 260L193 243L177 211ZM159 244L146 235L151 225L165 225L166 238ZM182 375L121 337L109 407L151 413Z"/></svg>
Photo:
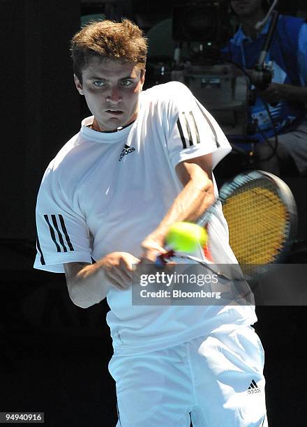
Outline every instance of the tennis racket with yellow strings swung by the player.
<svg viewBox="0 0 307 427"><path fill-rule="evenodd" d="M285 260L297 234L297 207L290 188L280 178L269 172L253 170L227 181L220 188L214 204L197 220L206 226L218 201L230 232L230 246L237 257L246 280L257 278L270 264ZM214 264L189 255L170 251L160 255L160 263L199 262L223 278L233 279ZM181 260L181 262L183 262Z"/></svg>

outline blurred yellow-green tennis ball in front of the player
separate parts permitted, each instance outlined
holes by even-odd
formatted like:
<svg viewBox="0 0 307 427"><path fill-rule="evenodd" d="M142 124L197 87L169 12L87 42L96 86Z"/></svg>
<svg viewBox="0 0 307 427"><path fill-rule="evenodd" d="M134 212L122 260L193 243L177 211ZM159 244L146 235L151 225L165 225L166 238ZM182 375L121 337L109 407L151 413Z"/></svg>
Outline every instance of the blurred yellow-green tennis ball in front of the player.
<svg viewBox="0 0 307 427"><path fill-rule="evenodd" d="M165 236L167 246L177 252L194 252L198 245L207 242L207 232L200 225L193 223L174 223Z"/></svg>

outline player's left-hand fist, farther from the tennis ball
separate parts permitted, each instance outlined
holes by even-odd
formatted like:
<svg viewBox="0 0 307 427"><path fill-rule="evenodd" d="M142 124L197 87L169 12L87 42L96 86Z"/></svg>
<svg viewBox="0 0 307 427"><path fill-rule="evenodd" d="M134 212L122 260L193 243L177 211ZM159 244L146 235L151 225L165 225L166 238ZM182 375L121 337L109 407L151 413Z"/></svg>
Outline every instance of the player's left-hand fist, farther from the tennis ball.
<svg viewBox="0 0 307 427"><path fill-rule="evenodd" d="M118 290L126 290L132 284L135 265L140 260L128 252L112 252L99 261L110 284Z"/></svg>

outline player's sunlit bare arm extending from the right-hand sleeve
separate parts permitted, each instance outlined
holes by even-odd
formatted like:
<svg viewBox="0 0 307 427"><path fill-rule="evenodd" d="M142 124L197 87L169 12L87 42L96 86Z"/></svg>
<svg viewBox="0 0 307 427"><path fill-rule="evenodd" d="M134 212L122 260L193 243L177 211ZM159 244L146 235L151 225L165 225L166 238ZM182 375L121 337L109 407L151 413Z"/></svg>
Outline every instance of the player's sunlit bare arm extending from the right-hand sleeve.
<svg viewBox="0 0 307 427"><path fill-rule="evenodd" d="M157 252L163 250L170 225L177 221L195 222L214 202L211 153L182 161L176 166L176 172L184 188L156 230L142 242L143 257L152 261L156 260Z"/></svg>

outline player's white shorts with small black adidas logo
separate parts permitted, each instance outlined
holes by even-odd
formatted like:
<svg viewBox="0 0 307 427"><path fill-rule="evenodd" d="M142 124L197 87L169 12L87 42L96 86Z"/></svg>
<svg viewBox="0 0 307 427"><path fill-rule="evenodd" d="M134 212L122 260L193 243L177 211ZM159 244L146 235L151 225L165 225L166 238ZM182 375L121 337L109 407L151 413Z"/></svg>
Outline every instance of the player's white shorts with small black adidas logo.
<svg viewBox="0 0 307 427"><path fill-rule="evenodd" d="M267 426L263 366L252 327L113 356L117 427Z"/></svg>

